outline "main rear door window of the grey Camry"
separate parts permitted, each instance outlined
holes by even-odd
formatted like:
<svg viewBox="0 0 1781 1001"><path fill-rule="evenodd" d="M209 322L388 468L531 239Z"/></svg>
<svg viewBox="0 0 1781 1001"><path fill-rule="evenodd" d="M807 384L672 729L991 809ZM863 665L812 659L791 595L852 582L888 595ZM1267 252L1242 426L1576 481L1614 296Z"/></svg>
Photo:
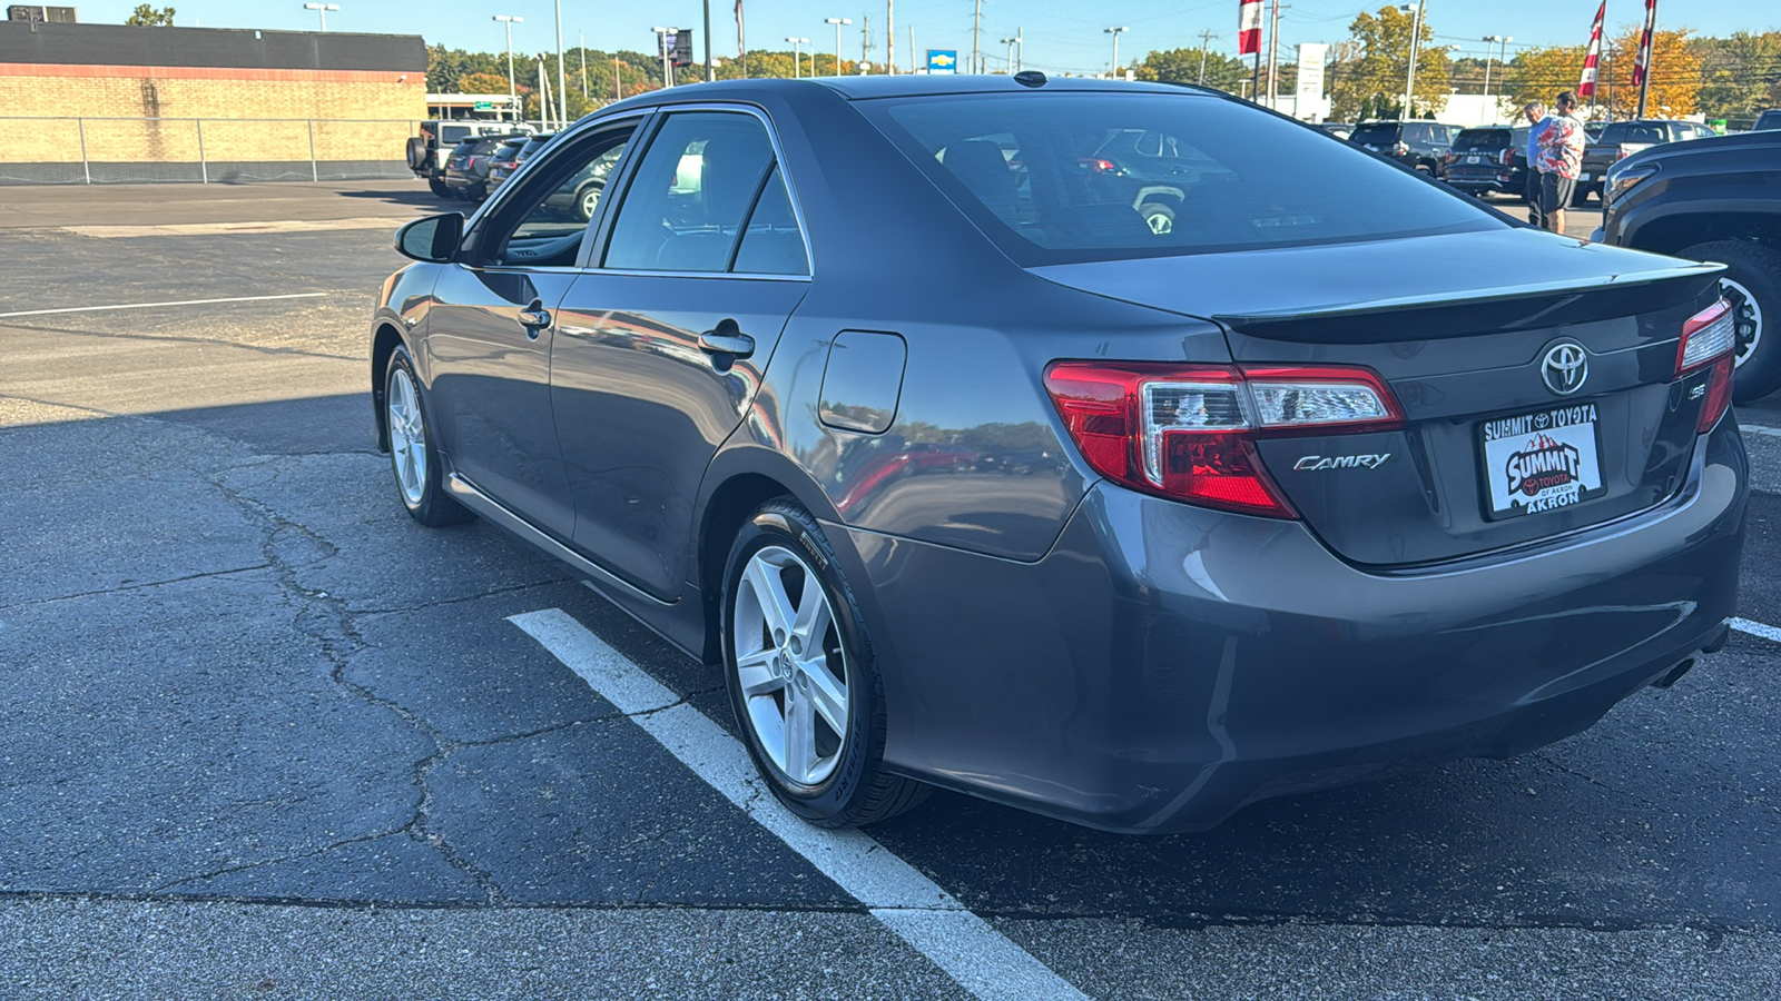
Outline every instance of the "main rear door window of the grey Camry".
<svg viewBox="0 0 1781 1001"><path fill-rule="evenodd" d="M670 116L618 207L604 265L625 271L728 269L743 237L743 221L769 171L773 142L753 116Z"/></svg>

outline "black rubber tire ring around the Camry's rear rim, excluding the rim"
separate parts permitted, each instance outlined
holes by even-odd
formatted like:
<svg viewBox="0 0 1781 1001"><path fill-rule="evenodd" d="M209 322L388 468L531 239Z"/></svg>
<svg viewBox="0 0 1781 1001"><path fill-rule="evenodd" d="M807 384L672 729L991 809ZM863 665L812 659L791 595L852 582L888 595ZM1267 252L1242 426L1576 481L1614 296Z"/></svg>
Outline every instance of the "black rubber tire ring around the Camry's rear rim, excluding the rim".
<svg viewBox="0 0 1781 1001"><path fill-rule="evenodd" d="M816 582L828 597L834 609L835 629L848 655L848 734L842 757L835 762L835 771L817 785L800 785L773 764L773 759L760 748L753 723L748 720L748 707L743 700L741 682L736 677L736 595L748 559L755 552L778 545L796 552L805 566L814 572ZM730 709L736 714L736 727L741 732L748 755L773 793L794 814L807 819L830 819L846 814L867 787L867 777L882 753L883 736L876 720L878 675L873 664L871 643L860 622L858 606L835 561L835 552L823 538L816 520L791 502L769 502L757 511L737 533L730 547L730 557L723 574L723 682L730 695Z"/></svg>

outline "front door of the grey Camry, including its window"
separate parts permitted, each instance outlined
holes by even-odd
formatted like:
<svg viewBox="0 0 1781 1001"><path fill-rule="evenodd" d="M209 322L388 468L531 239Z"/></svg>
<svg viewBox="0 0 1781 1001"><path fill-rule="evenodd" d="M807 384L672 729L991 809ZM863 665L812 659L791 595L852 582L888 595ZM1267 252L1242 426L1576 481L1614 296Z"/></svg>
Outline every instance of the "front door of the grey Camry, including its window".
<svg viewBox="0 0 1781 1001"><path fill-rule="evenodd" d="M435 424L452 470L536 527L570 538L575 504L550 413L554 312L575 281L588 221L561 196L623 155L634 121L552 148L502 187L443 267L427 315Z"/></svg>

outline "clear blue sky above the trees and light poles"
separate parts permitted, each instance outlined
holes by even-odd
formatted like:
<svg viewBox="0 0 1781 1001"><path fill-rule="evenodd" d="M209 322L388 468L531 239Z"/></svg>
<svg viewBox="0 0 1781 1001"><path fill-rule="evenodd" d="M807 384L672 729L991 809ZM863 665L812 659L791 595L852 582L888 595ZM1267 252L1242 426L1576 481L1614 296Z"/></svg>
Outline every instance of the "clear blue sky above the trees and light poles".
<svg viewBox="0 0 1781 1001"><path fill-rule="evenodd" d="M66 0L64 0L66 2ZM121 23L139 0L75 0L85 21ZM443 41L452 48L497 52L502 48L500 25L492 14L518 14L513 46L543 52L556 45L552 0L337 0L340 11L328 14L329 30L420 34L427 43ZM157 0L173 5L175 23L216 28L290 28L313 30L317 16L303 9L303 0ZM1428 21L1443 41L1459 43L1462 55L1484 55L1484 36L1512 36L1521 45L1576 45L1587 39L1598 0L1428 0ZM1281 12L1281 45L1300 41L1341 41L1348 21L1380 2L1289 0ZM712 0L711 21L716 53L736 53L734 0ZM1642 16L1640 0L1608 0L1608 27L1626 27ZM586 32L591 48L629 48L648 52L650 27L700 27L698 0L563 0L563 34L568 46L577 32ZM871 16L874 59L883 53L883 0L744 0L750 48L789 48L787 36L812 39L819 52L834 52L835 28L823 18L851 18L842 28L842 52L858 59L860 25ZM908 28L915 28L917 48L971 50L972 0L896 0L898 64L908 66ZM1213 50L1236 52L1238 0L983 0L983 52L990 68L999 68L1015 28L1026 36L1026 64L1045 71L1106 69L1111 39L1106 27L1131 30L1120 37L1120 61L1129 62L1152 48L1199 48L1200 32L1211 30ZM1735 30L1781 30L1781 4L1751 0L1660 0L1662 27L1690 27L1701 34ZM698 52L703 52L702 45Z"/></svg>

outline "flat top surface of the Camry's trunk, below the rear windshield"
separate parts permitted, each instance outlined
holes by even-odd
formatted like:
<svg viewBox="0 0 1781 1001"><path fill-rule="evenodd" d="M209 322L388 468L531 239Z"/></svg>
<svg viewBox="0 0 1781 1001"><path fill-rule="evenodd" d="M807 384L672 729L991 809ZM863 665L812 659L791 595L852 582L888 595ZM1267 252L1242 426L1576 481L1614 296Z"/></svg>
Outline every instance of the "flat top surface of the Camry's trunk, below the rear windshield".
<svg viewBox="0 0 1781 1001"><path fill-rule="evenodd" d="M1031 273L1110 299L1241 324L1606 290L1719 267L1514 228Z"/></svg>

